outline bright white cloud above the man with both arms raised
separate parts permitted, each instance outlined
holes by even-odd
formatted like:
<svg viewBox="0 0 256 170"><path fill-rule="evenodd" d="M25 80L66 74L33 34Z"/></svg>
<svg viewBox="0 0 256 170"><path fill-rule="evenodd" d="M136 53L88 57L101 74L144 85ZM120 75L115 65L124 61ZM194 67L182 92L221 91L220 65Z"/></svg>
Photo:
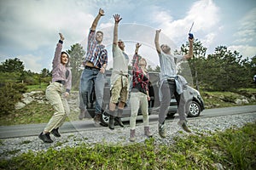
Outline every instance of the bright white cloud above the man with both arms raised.
<svg viewBox="0 0 256 170"><path fill-rule="evenodd" d="M159 13L158 7L154 8L151 18L159 24L167 37L172 37L172 40L179 44L187 41L189 28L195 22L192 29L195 37L201 37L202 42L207 42L207 45L210 45L219 30L218 10L219 8L212 0L201 0L193 3L182 19L173 20L168 11L161 10Z"/></svg>

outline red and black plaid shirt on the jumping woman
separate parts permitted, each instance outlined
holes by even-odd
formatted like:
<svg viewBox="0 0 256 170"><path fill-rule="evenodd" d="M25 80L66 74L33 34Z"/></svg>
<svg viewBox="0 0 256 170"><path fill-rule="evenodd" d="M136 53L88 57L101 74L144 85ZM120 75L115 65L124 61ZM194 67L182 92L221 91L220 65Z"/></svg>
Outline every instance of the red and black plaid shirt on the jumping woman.
<svg viewBox="0 0 256 170"><path fill-rule="evenodd" d="M141 84L141 88L143 88L143 93L145 94L148 91L149 76L148 73L146 75L143 74L143 70L138 65L139 59L141 59L141 57L138 54L133 55L132 88L135 88L138 84Z"/></svg>

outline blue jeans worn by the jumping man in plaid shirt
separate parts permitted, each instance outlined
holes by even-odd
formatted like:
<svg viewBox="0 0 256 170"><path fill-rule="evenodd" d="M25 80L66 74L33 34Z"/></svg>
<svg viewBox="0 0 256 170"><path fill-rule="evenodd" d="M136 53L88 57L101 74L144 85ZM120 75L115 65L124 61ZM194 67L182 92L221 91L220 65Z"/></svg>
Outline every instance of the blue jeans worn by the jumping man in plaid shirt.
<svg viewBox="0 0 256 170"><path fill-rule="evenodd" d="M102 113L102 102L103 102L103 92L105 86L105 75L102 74L97 69L84 69L80 80L80 91L79 91L79 108L81 110L85 109L88 104L88 98L90 97L90 92L92 88L95 88L96 92L96 114ZM94 87L93 87L94 86Z"/></svg>

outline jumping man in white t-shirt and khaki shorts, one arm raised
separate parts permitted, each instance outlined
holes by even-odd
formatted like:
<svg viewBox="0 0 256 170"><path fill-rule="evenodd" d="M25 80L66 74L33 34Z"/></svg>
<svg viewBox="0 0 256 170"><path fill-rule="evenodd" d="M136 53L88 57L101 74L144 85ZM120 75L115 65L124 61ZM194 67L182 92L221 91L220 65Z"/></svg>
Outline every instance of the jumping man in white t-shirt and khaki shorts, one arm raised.
<svg viewBox="0 0 256 170"><path fill-rule="evenodd" d="M130 88L128 63L129 57L125 54L125 43L118 40L118 25L122 20L119 14L114 14L113 27L113 71L111 75L111 98L109 101L109 125L110 129L114 128L114 122L118 122L120 127L124 127L121 116L128 98ZM118 111L115 113L115 107L118 104Z"/></svg>

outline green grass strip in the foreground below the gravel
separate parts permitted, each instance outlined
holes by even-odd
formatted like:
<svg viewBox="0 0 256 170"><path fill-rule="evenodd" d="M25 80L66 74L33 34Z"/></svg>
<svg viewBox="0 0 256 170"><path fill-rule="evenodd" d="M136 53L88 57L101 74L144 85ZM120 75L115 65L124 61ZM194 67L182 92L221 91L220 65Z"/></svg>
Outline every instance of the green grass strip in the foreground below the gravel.
<svg viewBox="0 0 256 170"><path fill-rule="evenodd" d="M256 123L212 135L177 137L175 144L155 145L154 139L126 146L81 144L76 148L28 152L1 160L0 169L224 169L256 166Z"/></svg>

